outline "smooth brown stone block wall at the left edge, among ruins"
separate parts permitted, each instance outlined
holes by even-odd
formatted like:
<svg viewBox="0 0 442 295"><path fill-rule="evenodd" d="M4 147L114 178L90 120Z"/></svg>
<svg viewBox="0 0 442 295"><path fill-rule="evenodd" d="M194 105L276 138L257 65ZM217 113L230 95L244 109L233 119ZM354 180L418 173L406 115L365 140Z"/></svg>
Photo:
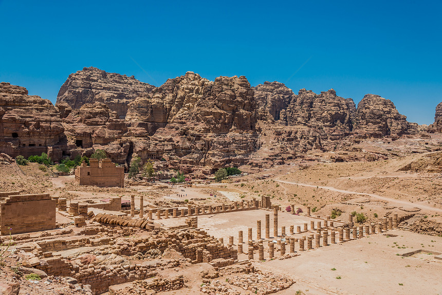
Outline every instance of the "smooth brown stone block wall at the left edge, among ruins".
<svg viewBox="0 0 442 295"><path fill-rule="evenodd" d="M16 192L2 194L4 197L0 202L0 232L2 235L56 228L56 200L52 199L49 194L14 194Z"/></svg>

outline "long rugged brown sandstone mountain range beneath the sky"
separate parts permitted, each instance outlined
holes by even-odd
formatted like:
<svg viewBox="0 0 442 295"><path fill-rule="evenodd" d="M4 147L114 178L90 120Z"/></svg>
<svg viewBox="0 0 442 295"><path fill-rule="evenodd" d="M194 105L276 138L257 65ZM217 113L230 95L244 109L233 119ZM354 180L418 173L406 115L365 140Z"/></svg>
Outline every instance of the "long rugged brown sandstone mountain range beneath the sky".
<svg viewBox="0 0 442 295"><path fill-rule="evenodd" d="M28 104L10 102L11 106L0 108L0 115L8 108L17 121L28 116L29 123L20 121L28 130L34 125L29 142L12 136L23 138L25 127L4 127L0 152L13 155L22 153L23 143L35 141L42 149L55 148L59 158L102 149L126 166L140 156L143 161L161 159L157 165L162 169L208 174L225 165L267 167L303 157L310 150L335 151L351 145L352 138L418 132L417 124L407 122L390 100L377 95L366 95L356 108L351 98L337 96L334 89L320 94L301 89L294 94L279 82L251 87L244 76L209 81L187 72L155 87L133 77L84 68L69 75L56 107L27 96L23 87L2 85L4 96L9 91L13 95L8 97L20 97ZM44 104L45 110L29 111L33 104ZM8 115L1 122L11 120ZM49 132L34 131L43 123L47 128L48 121Z"/></svg>

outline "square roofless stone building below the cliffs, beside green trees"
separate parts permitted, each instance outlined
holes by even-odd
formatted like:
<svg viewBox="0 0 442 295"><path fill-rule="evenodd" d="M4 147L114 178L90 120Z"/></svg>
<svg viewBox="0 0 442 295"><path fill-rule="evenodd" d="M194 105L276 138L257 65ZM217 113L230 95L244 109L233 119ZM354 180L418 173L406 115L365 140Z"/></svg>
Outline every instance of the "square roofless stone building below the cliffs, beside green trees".
<svg viewBox="0 0 442 295"><path fill-rule="evenodd" d="M124 167L116 167L109 159L90 159L90 166L84 162L75 169L75 180L80 186L124 188Z"/></svg>

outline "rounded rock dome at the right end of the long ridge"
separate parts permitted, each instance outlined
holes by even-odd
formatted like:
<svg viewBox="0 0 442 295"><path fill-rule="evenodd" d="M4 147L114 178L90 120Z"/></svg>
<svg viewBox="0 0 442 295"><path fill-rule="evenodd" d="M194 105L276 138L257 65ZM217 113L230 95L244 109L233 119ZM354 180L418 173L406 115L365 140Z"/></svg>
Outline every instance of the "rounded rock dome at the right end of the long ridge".
<svg viewBox="0 0 442 295"><path fill-rule="evenodd" d="M361 138L401 136L410 127L391 100L367 94L358 104L356 134Z"/></svg>

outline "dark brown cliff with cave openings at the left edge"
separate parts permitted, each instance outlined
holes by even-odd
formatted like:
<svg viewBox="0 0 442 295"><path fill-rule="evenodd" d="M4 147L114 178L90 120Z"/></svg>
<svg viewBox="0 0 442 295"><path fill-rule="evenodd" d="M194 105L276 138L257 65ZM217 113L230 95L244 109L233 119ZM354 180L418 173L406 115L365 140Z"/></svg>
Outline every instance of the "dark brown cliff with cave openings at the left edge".
<svg viewBox="0 0 442 295"><path fill-rule="evenodd" d="M0 83L0 152L12 157L48 153L62 157L65 135L58 110L25 87Z"/></svg>

